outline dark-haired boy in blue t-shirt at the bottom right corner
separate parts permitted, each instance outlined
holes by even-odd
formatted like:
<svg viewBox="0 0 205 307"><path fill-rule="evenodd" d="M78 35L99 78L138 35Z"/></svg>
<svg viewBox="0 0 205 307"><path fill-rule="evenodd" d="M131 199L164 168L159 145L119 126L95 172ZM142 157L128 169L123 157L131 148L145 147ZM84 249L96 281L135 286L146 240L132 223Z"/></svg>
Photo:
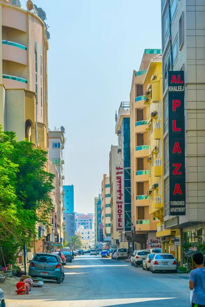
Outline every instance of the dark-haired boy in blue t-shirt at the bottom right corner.
<svg viewBox="0 0 205 307"><path fill-rule="evenodd" d="M203 266L203 254L193 255L196 269L192 270L189 277L189 288L193 291L192 307L205 307L205 268Z"/></svg>

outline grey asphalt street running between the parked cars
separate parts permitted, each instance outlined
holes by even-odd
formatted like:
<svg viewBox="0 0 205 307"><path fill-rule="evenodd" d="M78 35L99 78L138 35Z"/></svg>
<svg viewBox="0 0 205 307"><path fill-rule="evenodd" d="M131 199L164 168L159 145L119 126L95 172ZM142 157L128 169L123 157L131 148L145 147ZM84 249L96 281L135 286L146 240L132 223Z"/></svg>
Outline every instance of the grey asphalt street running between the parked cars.
<svg viewBox="0 0 205 307"><path fill-rule="evenodd" d="M128 262L85 255L68 264L65 275L60 285L46 281L31 295L6 295L7 307L190 306L185 274L152 274Z"/></svg>

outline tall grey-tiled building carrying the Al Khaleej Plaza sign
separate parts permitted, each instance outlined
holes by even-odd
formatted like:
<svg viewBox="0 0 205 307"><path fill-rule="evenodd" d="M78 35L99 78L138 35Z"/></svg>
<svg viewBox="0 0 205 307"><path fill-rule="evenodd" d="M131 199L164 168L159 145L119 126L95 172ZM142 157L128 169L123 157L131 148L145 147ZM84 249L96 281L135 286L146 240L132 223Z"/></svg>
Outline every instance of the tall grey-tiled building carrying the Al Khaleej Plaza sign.
<svg viewBox="0 0 205 307"><path fill-rule="evenodd" d="M162 20L162 70L163 70L163 182L164 182L164 223L161 225L160 235L163 239L163 248L169 252L174 245L174 237L180 232L179 257L185 263L186 246L190 252L200 249L204 245L205 234L205 52L204 52L204 3L201 1L174 0L161 1ZM175 129L169 126L170 113L168 76L170 71L183 71L183 75L176 74L174 85L184 87L184 118L175 121ZM178 77L180 75L180 78ZM182 76L182 77L181 77ZM180 83L180 84L177 84ZM179 94L179 93L177 93ZM183 99L183 98L182 98ZM178 108L179 110L179 108ZM170 177L172 152L169 135L182 124L185 125L185 150L178 150L176 154L185 160L185 176L181 179L185 188L177 193L186 204L186 211L182 214L170 215L170 197L173 195L173 183L177 179ZM179 155L180 154L180 155ZM184 163L184 162L182 162ZM185 183L186 180L186 183ZM170 185L172 183L172 185ZM185 193L186 191L186 193ZM185 195L186 194L186 195ZM184 246L184 248L183 248Z"/></svg>

